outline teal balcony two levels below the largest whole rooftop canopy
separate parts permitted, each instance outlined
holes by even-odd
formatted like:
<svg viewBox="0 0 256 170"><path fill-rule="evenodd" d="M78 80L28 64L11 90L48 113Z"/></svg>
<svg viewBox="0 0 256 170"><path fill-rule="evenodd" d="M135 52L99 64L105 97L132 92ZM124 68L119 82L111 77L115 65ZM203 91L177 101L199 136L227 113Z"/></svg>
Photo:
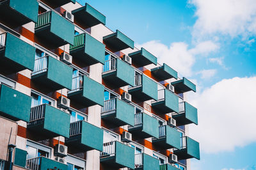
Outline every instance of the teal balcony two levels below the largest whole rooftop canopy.
<svg viewBox="0 0 256 170"><path fill-rule="evenodd" d="M68 98L83 104L84 107L104 105L104 86L86 75L73 77L72 90L68 91Z"/></svg>

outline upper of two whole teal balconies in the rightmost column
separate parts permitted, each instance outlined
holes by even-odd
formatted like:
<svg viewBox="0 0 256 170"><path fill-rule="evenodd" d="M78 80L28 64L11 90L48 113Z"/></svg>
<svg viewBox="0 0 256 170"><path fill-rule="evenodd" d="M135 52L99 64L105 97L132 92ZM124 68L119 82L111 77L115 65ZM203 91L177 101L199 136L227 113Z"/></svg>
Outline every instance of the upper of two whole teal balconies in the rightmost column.
<svg viewBox="0 0 256 170"><path fill-rule="evenodd" d="M179 113L173 113L172 118L176 120L177 126L195 123L198 125L197 109L187 102L179 103Z"/></svg>

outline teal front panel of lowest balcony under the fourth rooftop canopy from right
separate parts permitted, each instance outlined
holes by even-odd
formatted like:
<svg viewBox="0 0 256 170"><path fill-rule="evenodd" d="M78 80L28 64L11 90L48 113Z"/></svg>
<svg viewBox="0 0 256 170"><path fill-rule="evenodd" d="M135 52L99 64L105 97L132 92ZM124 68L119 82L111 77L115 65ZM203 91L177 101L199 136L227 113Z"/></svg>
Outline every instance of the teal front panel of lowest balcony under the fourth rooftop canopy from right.
<svg viewBox="0 0 256 170"><path fill-rule="evenodd" d="M116 163L134 169L134 148L116 141Z"/></svg>

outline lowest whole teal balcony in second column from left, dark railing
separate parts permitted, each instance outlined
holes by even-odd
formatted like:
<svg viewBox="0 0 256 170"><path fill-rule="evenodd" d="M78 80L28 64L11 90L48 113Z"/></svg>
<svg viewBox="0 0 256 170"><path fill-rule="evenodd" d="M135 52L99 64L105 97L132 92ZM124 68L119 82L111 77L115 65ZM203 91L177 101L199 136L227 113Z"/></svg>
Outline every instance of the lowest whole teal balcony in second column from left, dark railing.
<svg viewBox="0 0 256 170"><path fill-rule="evenodd" d="M70 114L48 104L37 105L31 108L28 129L42 134L40 137L69 137Z"/></svg>

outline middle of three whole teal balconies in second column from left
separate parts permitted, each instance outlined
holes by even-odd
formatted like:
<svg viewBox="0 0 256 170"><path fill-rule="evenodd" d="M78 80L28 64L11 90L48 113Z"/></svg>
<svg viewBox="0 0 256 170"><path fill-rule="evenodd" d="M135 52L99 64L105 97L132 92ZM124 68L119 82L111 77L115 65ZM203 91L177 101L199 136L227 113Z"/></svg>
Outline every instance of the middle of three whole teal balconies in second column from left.
<svg viewBox="0 0 256 170"><path fill-rule="evenodd" d="M58 59L44 56L35 59L34 71L31 73L32 81L59 90L72 88L73 69Z"/></svg>

